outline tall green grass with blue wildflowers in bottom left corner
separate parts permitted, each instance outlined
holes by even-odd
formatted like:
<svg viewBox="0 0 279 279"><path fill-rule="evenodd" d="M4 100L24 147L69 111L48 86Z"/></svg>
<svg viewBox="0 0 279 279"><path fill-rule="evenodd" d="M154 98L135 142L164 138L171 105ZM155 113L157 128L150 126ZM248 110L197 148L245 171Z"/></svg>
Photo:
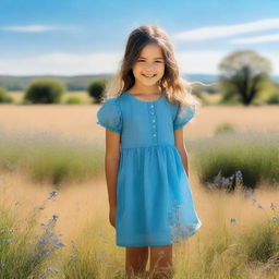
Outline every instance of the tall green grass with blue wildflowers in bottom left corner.
<svg viewBox="0 0 279 279"><path fill-rule="evenodd" d="M48 199L52 199L56 193L51 192ZM17 204L9 207L1 205L1 279L43 279L51 278L52 272L61 272L52 267L57 250L64 246L60 235L54 232L58 216L53 215L47 223L41 223L41 228L38 228L40 211L45 209L46 202L34 208L24 220L14 215ZM47 274L50 276L47 277Z"/></svg>

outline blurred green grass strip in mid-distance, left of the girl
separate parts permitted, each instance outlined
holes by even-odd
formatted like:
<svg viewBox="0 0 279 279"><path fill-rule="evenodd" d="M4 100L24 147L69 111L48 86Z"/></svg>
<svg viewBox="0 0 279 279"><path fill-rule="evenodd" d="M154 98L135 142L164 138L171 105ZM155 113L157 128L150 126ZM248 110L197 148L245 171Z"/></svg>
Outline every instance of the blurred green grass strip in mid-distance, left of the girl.
<svg viewBox="0 0 279 279"><path fill-rule="evenodd" d="M77 140L51 134L1 135L0 171L21 172L34 182L82 182L99 175L104 151Z"/></svg>

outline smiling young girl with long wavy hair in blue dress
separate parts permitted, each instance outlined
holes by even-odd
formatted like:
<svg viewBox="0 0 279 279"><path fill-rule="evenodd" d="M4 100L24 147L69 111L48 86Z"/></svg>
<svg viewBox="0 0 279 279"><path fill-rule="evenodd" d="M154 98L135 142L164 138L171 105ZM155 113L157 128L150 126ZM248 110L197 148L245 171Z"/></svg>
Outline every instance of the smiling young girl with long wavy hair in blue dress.
<svg viewBox="0 0 279 279"><path fill-rule="evenodd" d="M106 128L106 179L117 245L126 247L128 278L165 270L172 278L172 244L202 226L189 183L183 126L198 100L180 75L173 47L158 26L128 39L121 69L97 112ZM157 276L157 277L156 277Z"/></svg>

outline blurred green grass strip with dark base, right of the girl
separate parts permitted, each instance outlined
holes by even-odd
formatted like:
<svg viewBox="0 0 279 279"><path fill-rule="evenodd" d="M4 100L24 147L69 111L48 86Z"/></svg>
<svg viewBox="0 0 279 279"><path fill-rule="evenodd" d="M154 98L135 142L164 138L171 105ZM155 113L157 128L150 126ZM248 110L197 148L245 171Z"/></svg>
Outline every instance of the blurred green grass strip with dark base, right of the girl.
<svg viewBox="0 0 279 279"><path fill-rule="evenodd" d="M279 183L278 133L229 133L190 142L193 166L204 184L241 171L246 187Z"/></svg>

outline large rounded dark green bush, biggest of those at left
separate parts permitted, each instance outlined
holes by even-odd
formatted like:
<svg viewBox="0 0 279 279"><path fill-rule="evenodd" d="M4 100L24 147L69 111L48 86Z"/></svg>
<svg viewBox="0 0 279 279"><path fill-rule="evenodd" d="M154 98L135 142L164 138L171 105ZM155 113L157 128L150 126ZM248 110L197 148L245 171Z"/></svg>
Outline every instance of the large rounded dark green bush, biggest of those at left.
<svg viewBox="0 0 279 279"><path fill-rule="evenodd" d="M64 85L58 80L37 80L25 92L24 100L31 104L59 104L64 90Z"/></svg>

